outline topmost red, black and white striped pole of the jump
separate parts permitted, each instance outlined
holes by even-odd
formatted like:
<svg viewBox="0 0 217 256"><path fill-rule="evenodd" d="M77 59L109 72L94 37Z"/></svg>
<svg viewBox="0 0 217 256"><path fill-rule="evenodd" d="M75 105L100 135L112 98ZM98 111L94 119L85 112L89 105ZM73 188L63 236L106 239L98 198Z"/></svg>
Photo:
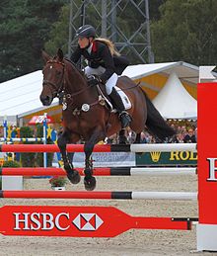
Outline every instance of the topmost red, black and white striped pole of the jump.
<svg viewBox="0 0 217 256"><path fill-rule="evenodd" d="M84 144L68 144L68 152L84 152ZM196 151L196 143L175 143L175 144L128 144L128 145L95 145L94 152L150 152L150 151ZM59 152L54 144L3 144L0 145L0 152Z"/></svg>

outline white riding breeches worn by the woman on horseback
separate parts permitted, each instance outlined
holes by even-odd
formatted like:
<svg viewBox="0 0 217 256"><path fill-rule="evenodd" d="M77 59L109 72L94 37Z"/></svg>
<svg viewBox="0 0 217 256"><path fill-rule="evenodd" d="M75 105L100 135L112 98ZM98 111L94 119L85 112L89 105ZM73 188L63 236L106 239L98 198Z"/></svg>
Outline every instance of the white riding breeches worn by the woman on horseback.
<svg viewBox="0 0 217 256"><path fill-rule="evenodd" d="M85 67L85 74L87 76L90 75L102 75L104 72L106 71L106 69L103 66L99 66L98 68L92 68L90 66L86 66ZM111 93L113 86L116 85L116 81L118 79L118 75L116 73L113 73L109 80L106 83L106 90L108 95Z"/></svg>

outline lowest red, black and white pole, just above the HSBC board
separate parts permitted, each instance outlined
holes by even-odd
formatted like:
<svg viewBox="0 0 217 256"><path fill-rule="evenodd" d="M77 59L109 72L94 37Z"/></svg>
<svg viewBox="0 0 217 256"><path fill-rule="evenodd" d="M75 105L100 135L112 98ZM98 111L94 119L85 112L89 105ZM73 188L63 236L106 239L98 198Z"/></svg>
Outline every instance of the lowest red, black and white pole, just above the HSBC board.
<svg viewBox="0 0 217 256"><path fill-rule="evenodd" d="M196 192L107 192L107 191L0 191L0 198L18 199L104 199L104 200L197 200Z"/></svg>

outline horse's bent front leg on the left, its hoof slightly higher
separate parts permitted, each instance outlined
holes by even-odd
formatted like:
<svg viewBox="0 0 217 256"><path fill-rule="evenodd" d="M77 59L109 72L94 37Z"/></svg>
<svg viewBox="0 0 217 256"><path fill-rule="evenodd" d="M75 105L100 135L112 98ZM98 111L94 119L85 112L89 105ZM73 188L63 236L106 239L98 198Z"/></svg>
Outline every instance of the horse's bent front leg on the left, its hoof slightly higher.
<svg viewBox="0 0 217 256"><path fill-rule="evenodd" d="M66 144L70 141L70 135L65 130L63 133L58 137L57 144L62 154L62 160L64 163L64 169L66 170L67 177L71 183L77 184L80 182L81 177L78 171L76 171L72 165L72 157L69 157L66 152Z"/></svg>

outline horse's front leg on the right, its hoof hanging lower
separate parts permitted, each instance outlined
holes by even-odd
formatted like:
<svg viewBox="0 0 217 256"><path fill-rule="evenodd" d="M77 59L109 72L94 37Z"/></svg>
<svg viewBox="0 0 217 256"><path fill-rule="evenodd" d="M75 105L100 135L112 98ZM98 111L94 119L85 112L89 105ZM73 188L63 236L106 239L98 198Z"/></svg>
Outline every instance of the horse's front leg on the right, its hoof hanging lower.
<svg viewBox="0 0 217 256"><path fill-rule="evenodd" d="M95 144L104 139L106 137L106 133L102 130L96 129L93 132L91 138L85 143L84 150L85 150L85 178L84 184L85 189L88 191L92 191L96 188L96 179L93 177L93 163L91 160L91 155L94 149Z"/></svg>

